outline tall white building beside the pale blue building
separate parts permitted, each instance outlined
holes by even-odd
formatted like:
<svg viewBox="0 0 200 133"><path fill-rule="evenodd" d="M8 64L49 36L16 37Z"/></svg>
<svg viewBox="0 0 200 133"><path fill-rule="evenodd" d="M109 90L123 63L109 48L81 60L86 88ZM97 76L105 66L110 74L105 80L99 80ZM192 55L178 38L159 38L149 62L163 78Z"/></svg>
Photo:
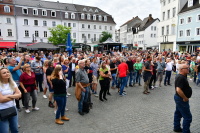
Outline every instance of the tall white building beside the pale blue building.
<svg viewBox="0 0 200 133"><path fill-rule="evenodd" d="M176 51L176 34L178 12L183 8L187 0L160 0L161 16L158 24L159 50Z"/></svg>

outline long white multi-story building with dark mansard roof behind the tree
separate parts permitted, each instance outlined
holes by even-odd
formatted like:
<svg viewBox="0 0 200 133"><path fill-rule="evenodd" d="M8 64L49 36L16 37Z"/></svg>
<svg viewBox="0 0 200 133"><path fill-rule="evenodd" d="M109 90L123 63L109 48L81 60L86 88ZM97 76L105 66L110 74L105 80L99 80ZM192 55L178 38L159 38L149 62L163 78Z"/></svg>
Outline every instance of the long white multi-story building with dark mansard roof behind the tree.
<svg viewBox="0 0 200 133"><path fill-rule="evenodd" d="M19 47L48 43L49 28L58 24L71 27L76 43L97 44L103 31L115 39L114 19L98 7L41 0L15 0L14 5Z"/></svg>

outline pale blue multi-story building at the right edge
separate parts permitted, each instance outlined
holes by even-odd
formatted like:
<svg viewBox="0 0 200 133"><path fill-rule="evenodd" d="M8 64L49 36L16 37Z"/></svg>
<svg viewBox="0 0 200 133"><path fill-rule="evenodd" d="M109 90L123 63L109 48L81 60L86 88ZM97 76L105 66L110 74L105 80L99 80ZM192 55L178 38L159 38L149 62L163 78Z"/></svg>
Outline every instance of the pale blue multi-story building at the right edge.
<svg viewBox="0 0 200 133"><path fill-rule="evenodd" d="M200 47L200 0L188 0L178 14L177 50L194 52Z"/></svg>

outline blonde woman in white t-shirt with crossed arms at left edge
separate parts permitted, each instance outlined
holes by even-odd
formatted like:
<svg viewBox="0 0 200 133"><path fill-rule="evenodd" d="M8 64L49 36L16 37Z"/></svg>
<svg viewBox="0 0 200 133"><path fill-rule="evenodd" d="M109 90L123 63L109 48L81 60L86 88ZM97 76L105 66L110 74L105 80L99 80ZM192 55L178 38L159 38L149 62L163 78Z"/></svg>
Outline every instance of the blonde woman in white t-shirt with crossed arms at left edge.
<svg viewBox="0 0 200 133"><path fill-rule="evenodd" d="M11 113L12 116L7 116L7 118L0 117L0 131L1 133L11 133L18 132L18 116L15 107L15 99L21 97L21 92L19 91L17 84L12 79L12 75L7 68L0 69L0 112L2 111ZM12 110L12 111L11 111Z"/></svg>

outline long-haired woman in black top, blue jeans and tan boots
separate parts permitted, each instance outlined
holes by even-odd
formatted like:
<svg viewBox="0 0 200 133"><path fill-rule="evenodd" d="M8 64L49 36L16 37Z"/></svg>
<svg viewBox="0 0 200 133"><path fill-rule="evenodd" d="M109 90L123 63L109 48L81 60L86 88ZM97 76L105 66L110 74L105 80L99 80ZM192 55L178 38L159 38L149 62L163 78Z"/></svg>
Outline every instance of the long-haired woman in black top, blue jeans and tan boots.
<svg viewBox="0 0 200 133"><path fill-rule="evenodd" d="M54 100L57 104L56 120L55 123L63 125L63 121L69 121L70 119L65 116L65 106L66 106L66 82L62 72L62 66L56 65L55 69L51 74L51 81L54 89ZM61 116L61 121L60 120Z"/></svg>

